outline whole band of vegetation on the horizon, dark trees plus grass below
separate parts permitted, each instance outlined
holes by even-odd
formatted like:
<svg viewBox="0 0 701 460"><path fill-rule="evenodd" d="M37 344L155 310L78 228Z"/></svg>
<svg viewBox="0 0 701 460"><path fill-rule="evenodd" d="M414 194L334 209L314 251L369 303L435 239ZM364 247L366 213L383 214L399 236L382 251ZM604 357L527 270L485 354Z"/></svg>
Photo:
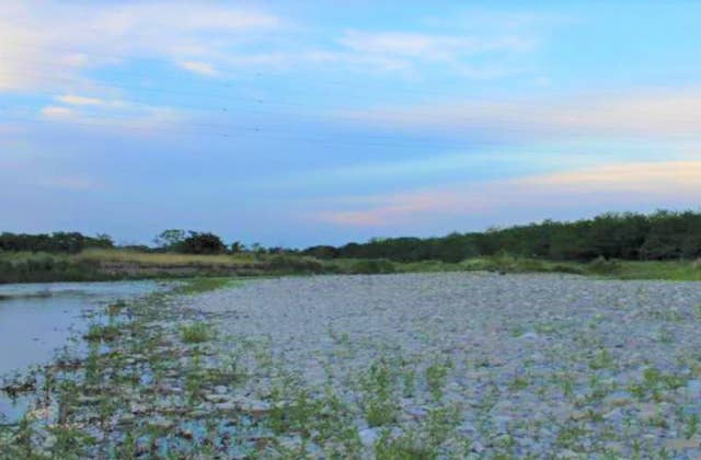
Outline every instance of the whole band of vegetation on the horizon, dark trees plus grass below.
<svg viewBox="0 0 701 460"><path fill-rule="evenodd" d="M2 233L0 283L447 271L701 280L701 212L691 211L605 214L574 222L545 220L480 233L372 239L304 251L257 243L245 249L239 242L228 251L212 233L176 229L163 231L156 243L158 249L128 251L114 249L104 234Z"/></svg>

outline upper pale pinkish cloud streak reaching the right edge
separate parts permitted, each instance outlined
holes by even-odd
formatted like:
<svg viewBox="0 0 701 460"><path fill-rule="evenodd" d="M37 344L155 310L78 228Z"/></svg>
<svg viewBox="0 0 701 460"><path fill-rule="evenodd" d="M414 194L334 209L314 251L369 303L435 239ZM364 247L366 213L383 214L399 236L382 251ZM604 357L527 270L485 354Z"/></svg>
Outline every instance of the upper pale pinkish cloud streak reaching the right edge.
<svg viewBox="0 0 701 460"><path fill-rule="evenodd" d="M628 94L466 101L340 111L336 116L369 126L501 136L627 135L697 136L701 89L637 90Z"/></svg>

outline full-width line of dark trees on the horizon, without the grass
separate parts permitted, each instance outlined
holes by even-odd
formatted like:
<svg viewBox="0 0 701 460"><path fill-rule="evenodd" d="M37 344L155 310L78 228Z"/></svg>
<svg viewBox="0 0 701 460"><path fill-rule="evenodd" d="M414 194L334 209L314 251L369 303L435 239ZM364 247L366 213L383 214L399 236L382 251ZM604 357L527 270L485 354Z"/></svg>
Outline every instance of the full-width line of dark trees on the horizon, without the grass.
<svg viewBox="0 0 701 460"><path fill-rule="evenodd" d="M85 249L116 248L108 235L78 232L0 234L0 251L78 253ZM122 246L143 252L184 254L302 254L317 258L386 258L394 262L437 260L460 262L470 257L510 254L553 261L590 261L597 257L631 261L696 260L701 257L701 212L659 210L652 215L604 214L572 222L492 228L484 232L450 233L440 238L372 239L342 246L317 245L306 250L264 248L241 242L226 244L210 232L165 230L153 246Z"/></svg>

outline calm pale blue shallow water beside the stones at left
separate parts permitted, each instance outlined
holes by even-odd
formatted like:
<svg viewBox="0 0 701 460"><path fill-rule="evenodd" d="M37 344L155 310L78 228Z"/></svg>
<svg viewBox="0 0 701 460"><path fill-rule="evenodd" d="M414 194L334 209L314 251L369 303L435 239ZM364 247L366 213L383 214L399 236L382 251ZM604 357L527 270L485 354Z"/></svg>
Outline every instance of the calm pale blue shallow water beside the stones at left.
<svg viewBox="0 0 701 460"><path fill-rule="evenodd" d="M84 313L162 287L154 281L1 285L0 378L50 361L73 334L87 331ZM0 394L0 414L12 417L22 405Z"/></svg>

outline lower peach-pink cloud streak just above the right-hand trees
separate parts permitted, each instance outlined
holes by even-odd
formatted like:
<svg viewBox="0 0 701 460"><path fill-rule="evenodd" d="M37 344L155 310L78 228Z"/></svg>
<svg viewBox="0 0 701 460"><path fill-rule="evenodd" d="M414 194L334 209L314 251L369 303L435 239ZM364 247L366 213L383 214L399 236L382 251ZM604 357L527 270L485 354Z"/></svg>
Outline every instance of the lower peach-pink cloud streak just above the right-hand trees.
<svg viewBox="0 0 701 460"><path fill-rule="evenodd" d="M446 216L496 217L516 209L547 208L553 212L575 203L595 203L600 210L652 203L692 206L701 199L699 177L701 161L620 163L438 189L342 198L336 206L346 209L322 210L313 218L338 226L379 228Z"/></svg>

